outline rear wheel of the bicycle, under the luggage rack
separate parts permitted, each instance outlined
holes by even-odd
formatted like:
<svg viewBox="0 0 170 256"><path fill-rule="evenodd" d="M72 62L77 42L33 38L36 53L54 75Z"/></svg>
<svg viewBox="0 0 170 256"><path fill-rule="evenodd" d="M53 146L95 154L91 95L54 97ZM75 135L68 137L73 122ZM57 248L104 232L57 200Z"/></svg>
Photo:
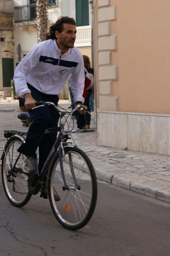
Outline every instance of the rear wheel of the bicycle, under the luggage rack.
<svg viewBox="0 0 170 256"><path fill-rule="evenodd" d="M24 166L24 155L20 155L20 158L17 162L16 168L13 168L15 160L19 156L17 149L24 142L24 137L19 135L14 135L8 139L4 146L3 158L2 158L2 181L3 188L6 194L6 197L16 207L23 207L31 198L29 194L29 189L27 186L27 175L22 173L22 167ZM19 176L13 175L10 170L13 170L13 173L16 173Z"/></svg>

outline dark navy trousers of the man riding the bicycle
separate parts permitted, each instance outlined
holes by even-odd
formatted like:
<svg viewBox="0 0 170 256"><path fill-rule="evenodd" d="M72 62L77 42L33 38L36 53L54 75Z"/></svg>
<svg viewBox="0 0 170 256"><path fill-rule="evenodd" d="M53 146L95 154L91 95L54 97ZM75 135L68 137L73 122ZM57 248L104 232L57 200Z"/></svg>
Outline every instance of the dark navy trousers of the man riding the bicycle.
<svg viewBox="0 0 170 256"><path fill-rule="evenodd" d="M55 105L58 105L58 95L43 94L31 85L28 85L28 87L36 101L52 101ZM24 103L24 99L22 101ZM52 106L27 110L27 112L33 123L29 126L26 143L22 144L18 151L26 157L36 158L36 150L39 147L39 171L41 171L57 136L56 132L45 133L45 130L58 126L59 112Z"/></svg>

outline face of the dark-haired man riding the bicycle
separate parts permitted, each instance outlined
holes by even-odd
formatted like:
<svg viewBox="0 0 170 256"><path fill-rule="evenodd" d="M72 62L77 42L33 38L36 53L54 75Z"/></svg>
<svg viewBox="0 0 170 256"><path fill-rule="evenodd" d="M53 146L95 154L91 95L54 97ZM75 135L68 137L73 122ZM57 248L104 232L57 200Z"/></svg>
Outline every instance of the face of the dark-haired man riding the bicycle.
<svg viewBox="0 0 170 256"><path fill-rule="evenodd" d="M63 31L61 33L58 33L58 31L55 32L61 53L65 53L69 48L73 48L76 32L76 27L72 24L63 24Z"/></svg>

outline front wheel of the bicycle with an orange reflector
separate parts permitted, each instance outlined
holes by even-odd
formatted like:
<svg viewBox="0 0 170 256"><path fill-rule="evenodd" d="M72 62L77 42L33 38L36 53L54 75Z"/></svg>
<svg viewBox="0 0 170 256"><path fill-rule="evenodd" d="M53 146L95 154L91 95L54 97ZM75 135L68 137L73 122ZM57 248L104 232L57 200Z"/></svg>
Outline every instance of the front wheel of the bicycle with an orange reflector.
<svg viewBox="0 0 170 256"><path fill-rule="evenodd" d="M71 161L69 161L69 156L71 156ZM77 186L73 180L70 166L73 168ZM66 184L69 187L65 190L63 189L65 184L57 152L52 160L47 180L50 207L61 225L69 230L78 230L91 219L97 203L95 169L88 155L81 149L72 146L65 146L63 169ZM60 201L54 200L53 188L58 192Z"/></svg>

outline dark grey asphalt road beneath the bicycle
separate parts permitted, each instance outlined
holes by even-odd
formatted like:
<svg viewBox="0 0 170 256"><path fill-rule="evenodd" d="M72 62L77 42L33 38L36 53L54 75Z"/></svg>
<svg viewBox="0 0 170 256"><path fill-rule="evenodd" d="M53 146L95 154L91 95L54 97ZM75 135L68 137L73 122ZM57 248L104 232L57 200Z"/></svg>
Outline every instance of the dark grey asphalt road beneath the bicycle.
<svg viewBox="0 0 170 256"><path fill-rule="evenodd" d="M0 193L2 256L169 256L168 203L98 182L93 218L72 232L59 225L39 194L18 209L1 187Z"/></svg>

